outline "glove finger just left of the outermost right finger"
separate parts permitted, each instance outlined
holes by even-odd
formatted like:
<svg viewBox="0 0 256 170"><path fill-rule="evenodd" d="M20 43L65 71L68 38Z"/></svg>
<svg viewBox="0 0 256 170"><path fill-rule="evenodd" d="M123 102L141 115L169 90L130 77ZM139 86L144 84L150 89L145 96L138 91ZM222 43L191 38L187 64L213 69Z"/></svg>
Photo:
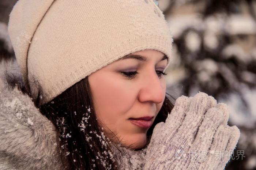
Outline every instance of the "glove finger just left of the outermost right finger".
<svg viewBox="0 0 256 170"><path fill-rule="evenodd" d="M225 150L229 142L231 129L228 125L220 125L214 135L211 148L207 154L206 168L208 170L216 169L219 162L225 157Z"/></svg>

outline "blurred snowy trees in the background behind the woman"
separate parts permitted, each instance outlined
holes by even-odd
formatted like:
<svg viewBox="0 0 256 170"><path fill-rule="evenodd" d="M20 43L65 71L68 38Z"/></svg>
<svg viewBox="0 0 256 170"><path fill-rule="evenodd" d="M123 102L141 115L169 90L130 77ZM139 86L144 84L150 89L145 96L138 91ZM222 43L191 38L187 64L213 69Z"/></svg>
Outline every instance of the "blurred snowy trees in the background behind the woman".
<svg viewBox="0 0 256 170"><path fill-rule="evenodd" d="M7 33L16 0L0 0L0 61L14 58ZM226 170L256 170L256 1L158 0L173 35L169 94L212 95L241 136Z"/></svg>

